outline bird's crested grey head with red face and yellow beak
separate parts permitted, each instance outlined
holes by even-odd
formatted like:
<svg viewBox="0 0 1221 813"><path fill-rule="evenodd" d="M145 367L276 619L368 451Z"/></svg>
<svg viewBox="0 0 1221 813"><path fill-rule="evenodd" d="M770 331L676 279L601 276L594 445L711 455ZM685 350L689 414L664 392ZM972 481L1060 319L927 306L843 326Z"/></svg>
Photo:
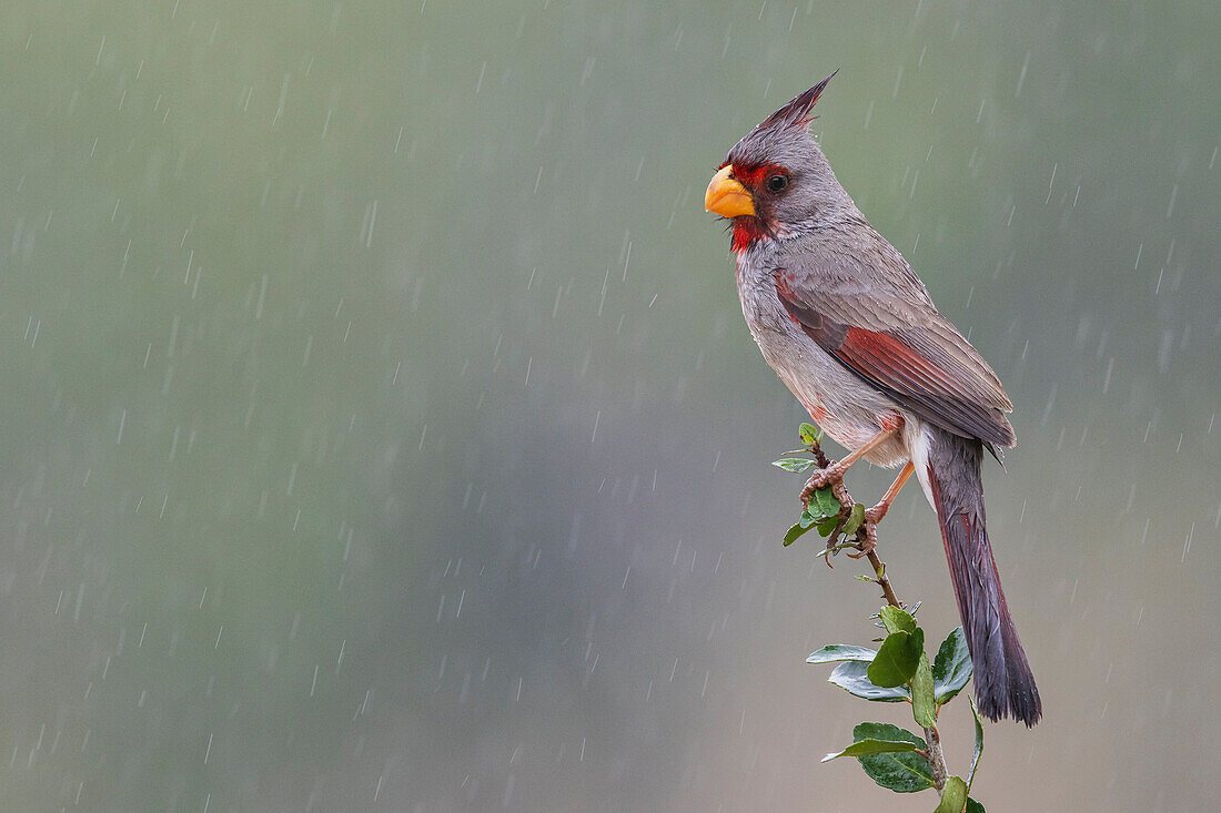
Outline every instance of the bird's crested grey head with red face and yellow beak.
<svg viewBox="0 0 1221 813"><path fill-rule="evenodd" d="M834 76L764 118L712 177L703 206L733 221L735 251L828 222L852 206L810 136L814 103Z"/></svg>

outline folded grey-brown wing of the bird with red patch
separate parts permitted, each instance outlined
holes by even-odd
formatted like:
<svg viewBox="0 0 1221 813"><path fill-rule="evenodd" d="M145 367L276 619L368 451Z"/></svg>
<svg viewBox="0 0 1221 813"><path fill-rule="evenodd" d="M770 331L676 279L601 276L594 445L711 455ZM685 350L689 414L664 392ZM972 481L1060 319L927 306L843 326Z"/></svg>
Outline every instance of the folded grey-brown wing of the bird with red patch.
<svg viewBox="0 0 1221 813"><path fill-rule="evenodd" d="M1012 404L996 374L890 251L901 267L864 275L857 261L844 269L829 255L789 258L775 272L777 294L822 349L919 417L962 437L1013 446L1005 417Z"/></svg>

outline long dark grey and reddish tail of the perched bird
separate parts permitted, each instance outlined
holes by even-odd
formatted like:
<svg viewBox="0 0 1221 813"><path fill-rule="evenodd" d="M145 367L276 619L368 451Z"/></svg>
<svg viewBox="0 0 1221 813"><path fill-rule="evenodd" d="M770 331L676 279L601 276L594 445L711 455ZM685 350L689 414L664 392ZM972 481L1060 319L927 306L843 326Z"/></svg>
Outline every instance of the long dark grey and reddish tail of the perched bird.
<svg viewBox="0 0 1221 813"><path fill-rule="evenodd" d="M950 562L954 594L974 667L979 710L1034 725L1043 714L1039 690L1009 615L993 559L979 476L983 444L929 427L928 483Z"/></svg>

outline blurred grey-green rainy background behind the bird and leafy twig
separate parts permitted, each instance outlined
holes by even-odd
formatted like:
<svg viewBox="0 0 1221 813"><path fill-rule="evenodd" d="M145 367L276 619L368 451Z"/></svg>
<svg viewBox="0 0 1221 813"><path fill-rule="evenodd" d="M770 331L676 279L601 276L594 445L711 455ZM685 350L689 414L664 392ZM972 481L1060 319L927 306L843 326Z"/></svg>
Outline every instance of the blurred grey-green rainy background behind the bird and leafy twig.
<svg viewBox="0 0 1221 813"><path fill-rule="evenodd" d="M878 601L779 544L802 415L702 211L834 68L833 166L1017 405L1046 718L976 795L1221 806L1217 4L2 18L6 809L930 809L817 764L906 714L803 663ZM956 624L918 491L882 544Z"/></svg>

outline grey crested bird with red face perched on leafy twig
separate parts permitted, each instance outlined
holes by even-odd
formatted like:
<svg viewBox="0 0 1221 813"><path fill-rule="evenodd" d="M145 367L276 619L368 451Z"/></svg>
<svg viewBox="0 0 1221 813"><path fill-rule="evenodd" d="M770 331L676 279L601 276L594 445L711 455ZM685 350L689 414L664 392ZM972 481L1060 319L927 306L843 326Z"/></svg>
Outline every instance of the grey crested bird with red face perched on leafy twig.
<svg viewBox="0 0 1221 813"><path fill-rule="evenodd" d="M838 73L838 71L836 71ZM984 452L1016 442L1012 403L938 311L904 256L852 203L810 133L827 77L729 150L705 209L729 221L742 315L763 358L811 417L849 449L801 498L841 487L864 459L900 468L866 511L873 527L915 472L937 511L979 710L1033 726L1043 714L1010 615L984 513Z"/></svg>

